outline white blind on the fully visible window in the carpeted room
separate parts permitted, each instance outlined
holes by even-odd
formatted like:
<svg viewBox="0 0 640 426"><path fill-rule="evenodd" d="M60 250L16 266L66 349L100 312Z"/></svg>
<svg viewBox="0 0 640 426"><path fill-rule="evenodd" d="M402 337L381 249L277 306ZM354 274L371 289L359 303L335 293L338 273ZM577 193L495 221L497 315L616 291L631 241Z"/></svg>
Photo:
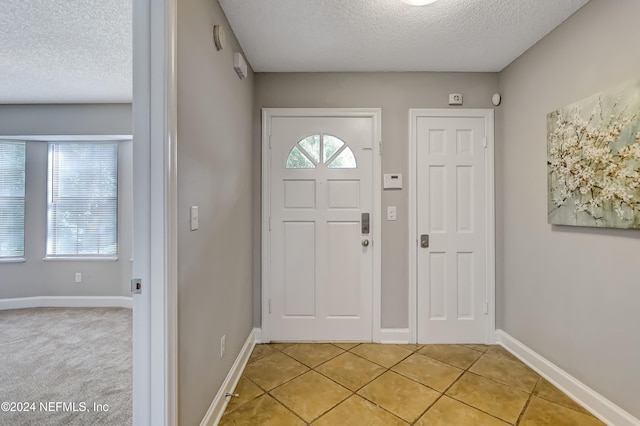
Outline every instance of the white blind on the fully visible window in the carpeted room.
<svg viewBox="0 0 640 426"><path fill-rule="evenodd" d="M47 257L118 253L118 144L49 143Z"/></svg>

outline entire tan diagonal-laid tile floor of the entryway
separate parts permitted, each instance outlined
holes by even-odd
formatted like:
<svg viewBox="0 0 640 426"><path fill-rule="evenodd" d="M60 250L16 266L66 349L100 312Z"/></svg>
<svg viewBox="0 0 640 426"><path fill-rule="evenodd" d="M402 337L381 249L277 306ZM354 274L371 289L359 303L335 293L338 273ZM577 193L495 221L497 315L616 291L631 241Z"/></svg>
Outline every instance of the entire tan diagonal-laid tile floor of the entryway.
<svg viewBox="0 0 640 426"><path fill-rule="evenodd" d="M256 345L220 425L596 426L499 346Z"/></svg>

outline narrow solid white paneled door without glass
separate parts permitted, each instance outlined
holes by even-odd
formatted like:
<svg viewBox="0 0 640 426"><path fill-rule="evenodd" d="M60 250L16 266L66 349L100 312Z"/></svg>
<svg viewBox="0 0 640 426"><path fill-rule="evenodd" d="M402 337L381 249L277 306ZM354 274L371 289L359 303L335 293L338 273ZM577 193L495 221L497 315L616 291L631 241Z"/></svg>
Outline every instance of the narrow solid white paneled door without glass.
<svg viewBox="0 0 640 426"><path fill-rule="evenodd" d="M485 343L487 242L492 238L487 117L465 110L428 114L412 117L418 342Z"/></svg>

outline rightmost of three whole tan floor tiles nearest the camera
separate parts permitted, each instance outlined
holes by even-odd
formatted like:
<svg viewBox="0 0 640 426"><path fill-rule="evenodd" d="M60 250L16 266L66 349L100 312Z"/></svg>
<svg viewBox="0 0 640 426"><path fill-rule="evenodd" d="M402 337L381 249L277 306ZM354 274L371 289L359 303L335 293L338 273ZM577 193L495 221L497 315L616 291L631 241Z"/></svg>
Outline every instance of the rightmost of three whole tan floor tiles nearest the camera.
<svg viewBox="0 0 640 426"><path fill-rule="evenodd" d="M465 373L447 391L451 398L515 424L529 394L472 373Z"/></svg>

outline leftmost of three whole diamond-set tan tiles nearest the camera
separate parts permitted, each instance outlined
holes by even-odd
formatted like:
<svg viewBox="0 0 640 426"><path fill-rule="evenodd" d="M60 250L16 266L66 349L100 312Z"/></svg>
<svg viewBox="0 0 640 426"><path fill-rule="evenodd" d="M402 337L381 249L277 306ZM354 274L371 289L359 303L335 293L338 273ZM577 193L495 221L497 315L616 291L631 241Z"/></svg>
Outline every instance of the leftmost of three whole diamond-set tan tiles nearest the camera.
<svg viewBox="0 0 640 426"><path fill-rule="evenodd" d="M315 371L309 371L271 391L271 395L306 422L318 418L352 392Z"/></svg>

